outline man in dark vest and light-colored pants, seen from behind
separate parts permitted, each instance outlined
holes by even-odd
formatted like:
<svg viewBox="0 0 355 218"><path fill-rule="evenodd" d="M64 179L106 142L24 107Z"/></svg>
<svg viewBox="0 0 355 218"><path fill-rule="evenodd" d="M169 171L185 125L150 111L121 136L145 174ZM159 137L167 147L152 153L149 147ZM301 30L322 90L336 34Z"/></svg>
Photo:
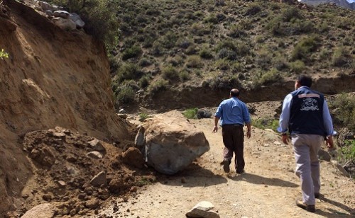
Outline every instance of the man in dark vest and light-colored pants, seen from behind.
<svg viewBox="0 0 355 218"><path fill-rule="evenodd" d="M296 205L315 212L315 198L320 197L320 162L318 151L326 137L327 147L333 147L333 124L327 101L322 93L310 89L312 78L300 76L295 81L295 91L283 101L278 131L283 143L293 144L296 160L296 175L300 178L302 200Z"/></svg>

